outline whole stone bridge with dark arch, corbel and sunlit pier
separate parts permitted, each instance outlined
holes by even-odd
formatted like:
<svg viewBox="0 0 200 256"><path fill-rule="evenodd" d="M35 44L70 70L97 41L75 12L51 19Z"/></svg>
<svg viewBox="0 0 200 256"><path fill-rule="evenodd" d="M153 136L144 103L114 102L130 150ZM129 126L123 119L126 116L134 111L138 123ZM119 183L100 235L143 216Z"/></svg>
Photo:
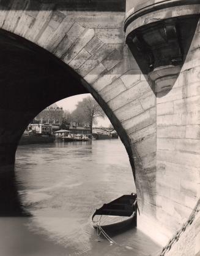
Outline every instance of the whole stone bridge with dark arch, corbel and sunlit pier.
<svg viewBox="0 0 200 256"><path fill-rule="evenodd" d="M199 198L198 20L198 0L1 0L1 166L42 109L89 92L127 150L139 225L165 244Z"/></svg>

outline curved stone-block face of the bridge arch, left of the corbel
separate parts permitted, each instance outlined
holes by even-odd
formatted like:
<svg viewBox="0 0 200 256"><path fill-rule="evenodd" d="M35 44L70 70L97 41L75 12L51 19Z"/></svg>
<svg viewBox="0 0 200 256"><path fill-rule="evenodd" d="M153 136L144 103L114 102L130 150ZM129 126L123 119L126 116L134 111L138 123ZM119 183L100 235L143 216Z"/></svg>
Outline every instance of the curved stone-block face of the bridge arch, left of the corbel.
<svg viewBox="0 0 200 256"><path fill-rule="evenodd" d="M142 212L144 201L155 204L155 96L125 45L124 13L52 7L40 4L30 10L24 1L13 1L11 10L1 7L1 27L69 64L119 119L134 150L130 153L130 146Z"/></svg>

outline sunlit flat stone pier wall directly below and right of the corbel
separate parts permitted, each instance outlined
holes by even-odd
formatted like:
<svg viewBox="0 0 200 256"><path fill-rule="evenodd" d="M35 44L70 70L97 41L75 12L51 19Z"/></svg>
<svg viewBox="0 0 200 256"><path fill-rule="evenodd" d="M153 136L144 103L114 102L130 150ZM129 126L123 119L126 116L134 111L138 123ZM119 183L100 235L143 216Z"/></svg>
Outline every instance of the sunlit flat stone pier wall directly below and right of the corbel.
<svg viewBox="0 0 200 256"><path fill-rule="evenodd" d="M157 219L174 231L200 196L199 74L198 23L174 87L157 95Z"/></svg>

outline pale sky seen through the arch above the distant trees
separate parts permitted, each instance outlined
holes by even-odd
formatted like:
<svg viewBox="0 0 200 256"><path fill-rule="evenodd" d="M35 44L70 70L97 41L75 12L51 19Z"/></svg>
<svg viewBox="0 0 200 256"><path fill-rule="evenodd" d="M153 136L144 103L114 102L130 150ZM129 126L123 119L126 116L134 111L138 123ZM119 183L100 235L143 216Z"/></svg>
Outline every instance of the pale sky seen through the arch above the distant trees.
<svg viewBox="0 0 200 256"><path fill-rule="evenodd" d="M76 104L78 101L82 101L83 98L86 98L90 94L81 94L81 95L75 95L69 98L61 99L61 101L57 101L57 106L63 107L64 110L69 110L72 112L76 108ZM108 127L110 125L108 117L103 118L97 118L97 125L98 126L105 126Z"/></svg>

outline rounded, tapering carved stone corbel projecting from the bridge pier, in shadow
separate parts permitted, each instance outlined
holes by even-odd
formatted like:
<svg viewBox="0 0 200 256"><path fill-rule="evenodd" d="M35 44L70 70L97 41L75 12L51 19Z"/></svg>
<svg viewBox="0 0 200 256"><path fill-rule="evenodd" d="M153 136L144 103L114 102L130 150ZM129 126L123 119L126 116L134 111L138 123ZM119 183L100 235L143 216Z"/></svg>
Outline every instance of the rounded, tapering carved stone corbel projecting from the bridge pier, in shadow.
<svg viewBox="0 0 200 256"><path fill-rule="evenodd" d="M185 9L183 4L187 1L164 1L164 6L158 2L143 6L141 10L136 6L129 10L124 25L127 45L143 74L150 78L156 95L167 93L176 82L194 36L200 9L192 0Z"/></svg>

